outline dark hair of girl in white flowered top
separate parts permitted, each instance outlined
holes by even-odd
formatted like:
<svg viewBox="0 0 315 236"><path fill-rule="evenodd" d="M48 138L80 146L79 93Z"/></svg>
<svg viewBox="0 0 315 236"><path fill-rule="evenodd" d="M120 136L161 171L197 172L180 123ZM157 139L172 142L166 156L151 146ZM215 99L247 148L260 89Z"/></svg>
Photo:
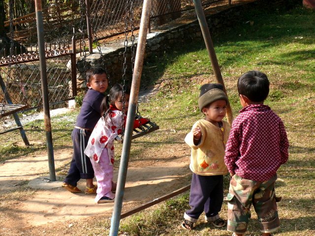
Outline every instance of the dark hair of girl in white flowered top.
<svg viewBox="0 0 315 236"><path fill-rule="evenodd" d="M123 86L121 84L115 84L109 91L108 95L105 95L100 105L101 115L103 118L110 113L109 106L114 105L115 101L123 95ZM126 86L125 94L130 94L129 87Z"/></svg>

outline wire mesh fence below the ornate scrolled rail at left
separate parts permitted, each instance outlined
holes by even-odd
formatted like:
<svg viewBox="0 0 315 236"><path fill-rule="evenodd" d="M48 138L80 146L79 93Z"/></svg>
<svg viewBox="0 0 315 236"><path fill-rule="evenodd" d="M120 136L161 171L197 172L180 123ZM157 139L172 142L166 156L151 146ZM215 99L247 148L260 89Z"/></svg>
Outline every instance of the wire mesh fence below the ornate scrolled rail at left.
<svg viewBox="0 0 315 236"><path fill-rule="evenodd" d="M57 104L64 107L65 101L73 98L72 71L68 61L71 61L71 55L46 58L48 98L52 108L57 108ZM5 91L0 90L1 104L6 104L9 98L13 104L27 105L25 110L43 106L38 59L13 64L9 69L1 66L0 80L5 85Z"/></svg>

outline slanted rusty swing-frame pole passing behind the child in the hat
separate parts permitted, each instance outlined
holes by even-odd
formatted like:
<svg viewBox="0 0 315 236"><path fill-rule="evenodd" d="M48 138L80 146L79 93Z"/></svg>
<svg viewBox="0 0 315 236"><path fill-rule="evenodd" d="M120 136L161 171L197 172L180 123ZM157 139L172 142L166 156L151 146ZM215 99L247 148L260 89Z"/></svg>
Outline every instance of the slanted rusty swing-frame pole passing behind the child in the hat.
<svg viewBox="0 0 315 236"><path fill-rule="evenodd" d="M192 0L192 1L193 1L194 6L195 6L195 10L196 10L196 14L197 14L197 17L198 17L199 25L200 25L200 28L201 28L201 31L202 31L203 39L205 40L205 44L206 44L207 51L208 51L208 56L209 56L210 61L211 61L211 66L212 66L213 72L215 74L215 78L216 78L218 83L223 85L223 90L226 93L226 89L225 89L225 86L224 86L223 78L222 78L222 75L221 75L220 66L219 66L219 63L218 63L218 59L217 59L217 56L216 56L215 49L213 47L210 31L209 31L209 28L208 28L208 25L207 25L207 20L206 20L206 17L205 17L205 13L203 12L203 9L202 9L201 2L200 2L200 0ZM226 118L227 118L227 121L229 122L229 124L232 124L233 116L232 116L231 106L230 106L229 103L227 104Z"/></svg>

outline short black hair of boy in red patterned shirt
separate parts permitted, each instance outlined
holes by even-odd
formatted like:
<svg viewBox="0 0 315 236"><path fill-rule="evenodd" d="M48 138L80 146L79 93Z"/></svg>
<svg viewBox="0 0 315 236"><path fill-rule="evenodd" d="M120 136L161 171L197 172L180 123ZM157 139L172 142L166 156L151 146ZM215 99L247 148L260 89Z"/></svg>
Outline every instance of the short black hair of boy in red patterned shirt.
<svg viewBox="0 0 315 236"><path fill-rule="evenodd" d="M264 101L269 93L269 80L265 73L251 70L237 81L238 94L242 94L252 102Z"/></svg>

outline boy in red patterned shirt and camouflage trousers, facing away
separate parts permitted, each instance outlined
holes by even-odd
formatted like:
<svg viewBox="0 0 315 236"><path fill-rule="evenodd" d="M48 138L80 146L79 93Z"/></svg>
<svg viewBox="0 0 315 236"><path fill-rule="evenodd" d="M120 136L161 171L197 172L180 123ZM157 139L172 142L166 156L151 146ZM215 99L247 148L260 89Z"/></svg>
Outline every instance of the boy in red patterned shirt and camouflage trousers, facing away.
<svg viewBox="0 0 315 236"><path fill-rule="evenodd" d="M289 144L281 118L263 104L269 93L266 74L245 73L237 89L243 109L233 121L224 157L231 175L227 230L244 236L253 205L262 236L271 236L280 228L274 186Z"/></svg>

